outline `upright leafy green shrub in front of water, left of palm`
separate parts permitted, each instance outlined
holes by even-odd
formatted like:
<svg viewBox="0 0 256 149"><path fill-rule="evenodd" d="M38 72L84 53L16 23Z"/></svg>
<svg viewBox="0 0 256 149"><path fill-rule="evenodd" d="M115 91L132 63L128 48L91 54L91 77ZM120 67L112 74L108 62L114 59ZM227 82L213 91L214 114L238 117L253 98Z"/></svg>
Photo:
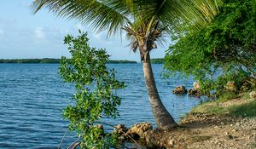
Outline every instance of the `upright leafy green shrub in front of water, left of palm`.
<svg viewBox="0 0 256 149"><path fill-rule="evenodd" d="M78 37L67 35L64 39L72 58L61 58L59 72L65 82L75 84L76 92L75 103L64 109L63 116L71 123L69 128L78 132L81 148L108 148L113 145L113 135L104 134L96 123L102 117L118 116L121 99L117 90L125 86L116 79L113 69L108 70L106 50L90 48L87 34L79 33Z"/></svg>

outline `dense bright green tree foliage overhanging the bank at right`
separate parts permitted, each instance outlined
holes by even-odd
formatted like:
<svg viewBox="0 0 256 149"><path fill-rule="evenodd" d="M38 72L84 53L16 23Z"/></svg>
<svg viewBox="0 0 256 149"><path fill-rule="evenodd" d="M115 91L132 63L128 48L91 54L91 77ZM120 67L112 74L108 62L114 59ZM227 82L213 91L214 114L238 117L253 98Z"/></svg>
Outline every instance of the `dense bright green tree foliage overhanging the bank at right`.
<svg viewBox="0 0 256 149"><path fill-rule="evenodd" d="M200 32L188 28L175 32L175 44L166 53L166 68L195 75L207 93L227 83L229 79L223 81L226 75L232 80L231 76L243 74L240 82L255 77L255 10L254 0L225 0L212 24Z"/></svg>

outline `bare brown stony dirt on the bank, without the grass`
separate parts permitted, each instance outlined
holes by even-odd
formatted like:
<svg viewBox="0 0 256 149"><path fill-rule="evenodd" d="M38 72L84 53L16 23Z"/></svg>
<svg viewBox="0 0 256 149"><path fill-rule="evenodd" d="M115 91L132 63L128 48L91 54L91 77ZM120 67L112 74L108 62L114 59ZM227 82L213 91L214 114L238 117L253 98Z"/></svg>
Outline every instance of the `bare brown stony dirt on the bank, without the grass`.
<svg viewBox="0 0 256 149"><path fill-rule="evenodd" d="M247 101L234 99L221 103L221 106ZM179 125L176 129L154 130L150 140L158 146L178 149L256 148L256 117L190 113Z"/></svg>

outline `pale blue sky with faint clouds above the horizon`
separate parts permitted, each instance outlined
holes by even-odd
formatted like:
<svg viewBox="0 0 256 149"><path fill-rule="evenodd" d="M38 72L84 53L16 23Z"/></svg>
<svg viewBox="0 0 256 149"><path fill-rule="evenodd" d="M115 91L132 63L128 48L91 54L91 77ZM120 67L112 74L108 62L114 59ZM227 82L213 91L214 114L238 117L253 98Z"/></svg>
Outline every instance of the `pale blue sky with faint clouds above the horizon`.
<svg viewBox="0 0 256 149"><path fill-rule="evenodd" d="M32 14L33 0L0 0L0 59L61 58L70 57L63 38L78 35L78 30L88 32L90 46L107 49L111 60L137 60L125 35L107 38L106 32L92 32L90 26L77 20L59 18L42 9ZM168 45L158 46L151 58L162 58Z"/></svg>

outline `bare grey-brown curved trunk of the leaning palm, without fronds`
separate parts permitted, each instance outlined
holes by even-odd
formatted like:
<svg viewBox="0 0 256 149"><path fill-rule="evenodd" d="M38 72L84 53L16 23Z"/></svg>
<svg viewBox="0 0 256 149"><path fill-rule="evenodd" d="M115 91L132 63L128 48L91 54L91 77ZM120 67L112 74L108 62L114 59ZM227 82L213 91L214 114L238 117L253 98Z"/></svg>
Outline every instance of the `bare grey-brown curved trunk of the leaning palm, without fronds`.
<svg viewBox="0 0 256 149"><path fill-rule="evenodd" d="M177 126L171 114L166 110L160 100L157 88L154 83L154 74L150 63L150 55L147 53L143 60L143 72L145 77L146 87L148 89L148 97L150 106L154 115L154 121L160 129L167 129Z"/></svg>

